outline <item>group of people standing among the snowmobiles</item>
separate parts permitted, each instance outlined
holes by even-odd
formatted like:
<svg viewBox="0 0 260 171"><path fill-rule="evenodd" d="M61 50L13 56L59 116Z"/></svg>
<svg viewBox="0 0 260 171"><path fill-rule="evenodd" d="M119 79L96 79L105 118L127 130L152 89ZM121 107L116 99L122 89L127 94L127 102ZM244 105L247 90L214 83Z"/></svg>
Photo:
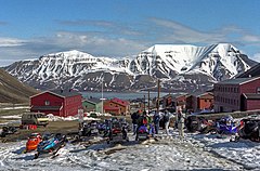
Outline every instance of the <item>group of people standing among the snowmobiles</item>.
<svg viewBox="0 0 260 171"><path fill-rule="evenodd" d="M151 123L154 126L155 134L158 134L160 123L162 123L166 130L166 134L169 135L169 124L170 124L170 118L173 117L169 111L165 110L156 111L153 117L147 116L146 111L136 111L131 115L132 119L132 126L133 126L133 134L136 133L139 127L141 126L151 126ZM180 137L184 137L184 119L185 115L182 113L181 109L177 110L176 115L176 127L179 130Z"/></svg>

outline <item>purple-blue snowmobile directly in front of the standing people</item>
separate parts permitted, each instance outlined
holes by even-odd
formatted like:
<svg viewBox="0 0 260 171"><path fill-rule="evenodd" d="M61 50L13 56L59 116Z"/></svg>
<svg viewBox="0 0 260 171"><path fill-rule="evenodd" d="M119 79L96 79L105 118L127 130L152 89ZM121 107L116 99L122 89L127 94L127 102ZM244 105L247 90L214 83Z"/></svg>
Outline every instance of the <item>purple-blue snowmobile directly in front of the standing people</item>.
<svg viewBox="0 0 260 171"><path fill-rule="evenodd" d="M150 137L153 137L155 134L154 126L152 123L150 124L143 124L138 128L135 141L145 141Z"/></svg>

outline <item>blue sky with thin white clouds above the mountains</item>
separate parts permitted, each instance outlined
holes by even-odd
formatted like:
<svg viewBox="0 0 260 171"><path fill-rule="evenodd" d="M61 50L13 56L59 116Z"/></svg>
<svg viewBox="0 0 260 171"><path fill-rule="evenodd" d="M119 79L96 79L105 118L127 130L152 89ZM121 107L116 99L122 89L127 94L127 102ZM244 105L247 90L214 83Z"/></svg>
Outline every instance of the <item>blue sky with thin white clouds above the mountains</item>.
<svg viewBox="0 0 260 171"><path fill-rule="evenodd" d="M154 44L232 43L260 62L259 0L0 0L0 66L79 50L136 55Z"/></svg>

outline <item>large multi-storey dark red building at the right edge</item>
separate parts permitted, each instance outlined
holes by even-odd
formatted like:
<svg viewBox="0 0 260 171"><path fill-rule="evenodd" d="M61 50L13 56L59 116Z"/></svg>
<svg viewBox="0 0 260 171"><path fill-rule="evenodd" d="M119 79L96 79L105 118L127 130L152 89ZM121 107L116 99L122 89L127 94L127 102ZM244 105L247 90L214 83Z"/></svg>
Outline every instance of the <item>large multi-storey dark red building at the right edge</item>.
<svg viewBox="0 0 260 171"><path fill-rule="evenodd" d="M214 111L260 109L260 77L236 78L214 84Z"/></svg>

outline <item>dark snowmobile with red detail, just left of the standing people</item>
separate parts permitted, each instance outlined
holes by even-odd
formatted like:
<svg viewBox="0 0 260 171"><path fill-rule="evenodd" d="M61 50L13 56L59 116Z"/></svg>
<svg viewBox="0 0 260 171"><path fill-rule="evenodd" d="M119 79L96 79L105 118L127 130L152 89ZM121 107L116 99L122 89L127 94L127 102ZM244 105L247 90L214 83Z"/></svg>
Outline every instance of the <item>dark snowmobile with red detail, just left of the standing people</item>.
<svg viewBox="0 0 260 171"><path fill-rule="evenodd" d="M118 143L121 141L129 141L129 137L127 135L127 128L117 119L113 119L110 123L108 124L109 128L107 128L106 135L107 144L109 143Z"/></svg>

